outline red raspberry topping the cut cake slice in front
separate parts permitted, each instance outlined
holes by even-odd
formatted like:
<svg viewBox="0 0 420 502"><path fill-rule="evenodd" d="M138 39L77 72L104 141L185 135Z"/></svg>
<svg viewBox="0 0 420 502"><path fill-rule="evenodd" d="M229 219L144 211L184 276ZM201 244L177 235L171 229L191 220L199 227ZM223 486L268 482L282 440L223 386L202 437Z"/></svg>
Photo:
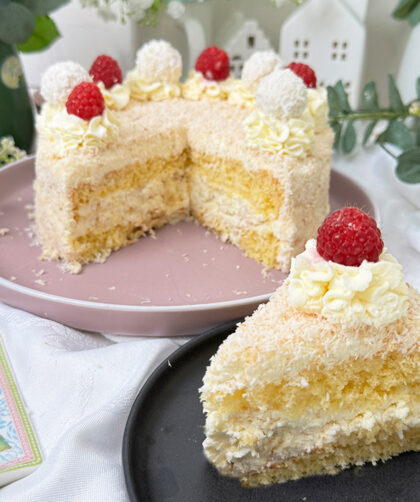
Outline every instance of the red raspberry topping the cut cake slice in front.
<svg viewBox="0 0 420 502"><path fill-rule="evenodd" d="M334 211L318 228L316 248L325 259L358 267L377 262L384 247L376 221L357 207Z"/></svg>

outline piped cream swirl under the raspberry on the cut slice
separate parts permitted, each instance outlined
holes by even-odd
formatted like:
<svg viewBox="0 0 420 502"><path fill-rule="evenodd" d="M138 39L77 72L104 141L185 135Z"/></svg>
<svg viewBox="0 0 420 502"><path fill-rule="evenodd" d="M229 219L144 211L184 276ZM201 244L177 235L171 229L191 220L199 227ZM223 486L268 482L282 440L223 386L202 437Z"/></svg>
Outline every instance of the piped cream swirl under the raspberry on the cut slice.
<svg viewBox="0 0 420 502"><path fill-rule="evenodd" d="M324 260L311 239L292 260L287 285L292 305L347 325L379 327L402 317L408 306L402 266L385 250L376 263L350 267Z"/></svg>

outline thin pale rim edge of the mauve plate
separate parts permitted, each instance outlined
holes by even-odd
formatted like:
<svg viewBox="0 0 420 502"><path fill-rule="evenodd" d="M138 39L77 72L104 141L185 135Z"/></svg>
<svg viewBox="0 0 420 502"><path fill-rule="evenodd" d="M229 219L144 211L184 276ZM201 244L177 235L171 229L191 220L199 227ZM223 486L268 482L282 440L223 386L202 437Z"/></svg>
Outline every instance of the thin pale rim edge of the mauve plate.
<svg viewBox="0 0 420 502"><path fill-rule="evenodd" d="M11 162L7 164L5 167L0 169L0 178L2 173L13 169L18 168L21 164L29 164L33 163L33 168L35 169L35 158L36 155L28 155L23 159L19 159L15 162ZM356 189L360 190L365 197L370 201L373 208L372 217L380 224L381 217L378 205L369 196L367 191L363 186L361 186L357 181L353 180L349 176L341 173L336 170L333 166L331 166L331 175L337 176L338 178L345 179L346 182L353 184ZM330 178L331 179L331 178ZM107 310L114 312L137 312L137 313L160 313L160 312L168 312L168 313L176 313L176 312L195 312L195 311L205 311L205 310L224 310L235 307L243 307L246 305L252 305L255 303L263 303L266 302L270 296L274 293L266 293L258 296L250 296L247 298L239 298L235 300L225 300L220 302L211 302L211 303L195 303L191 305L125 305L118 303L104 303L104 302L96 302L90 300L78 300L76 298L69 298L66 296L59 296L52 293L45 293L43 291L39 291L37 289L30 288L28 286L22 286L13 281L10 281L2 276L0 276L0 288L6 288L10 291L13 291L17 294L24 295L26 297L32 297L34 299L53 302L61 305L68 305L72 307L85 308L89 310Z"/></svg>

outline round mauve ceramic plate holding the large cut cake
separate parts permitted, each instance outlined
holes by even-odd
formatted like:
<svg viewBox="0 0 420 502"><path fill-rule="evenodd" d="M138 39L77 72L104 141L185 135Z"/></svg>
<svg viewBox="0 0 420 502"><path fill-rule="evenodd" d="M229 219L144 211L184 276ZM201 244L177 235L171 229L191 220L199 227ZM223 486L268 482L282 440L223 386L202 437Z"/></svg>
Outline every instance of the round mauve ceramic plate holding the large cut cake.
<svg viewBox="0 0 420 502"><path fill-rule="evenodd" d="M285 274L264 273L235 246L194 223L168 225L89 264L78 275L40 261L33 245L34 157L0 171L0 300L79 329L178 336L243 317L266 301ZM366 193L336 172L331 208L356 205L378 217Z"/></svg>

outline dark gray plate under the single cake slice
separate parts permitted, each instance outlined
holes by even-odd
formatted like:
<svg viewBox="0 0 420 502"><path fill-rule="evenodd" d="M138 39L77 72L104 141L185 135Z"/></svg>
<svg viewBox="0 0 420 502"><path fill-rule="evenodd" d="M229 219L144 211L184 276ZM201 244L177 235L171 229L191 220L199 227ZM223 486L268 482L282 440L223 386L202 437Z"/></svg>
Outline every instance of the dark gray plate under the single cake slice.
<svg viewBox="0 0 420 502"><path fill-rule="evenodd" d="M137 396L123 440L132 502L419 502L420 454L267 488L242 488L220 476L202 452L198 388L209 358L235 328L224 324L178 349Z"/></svg>

